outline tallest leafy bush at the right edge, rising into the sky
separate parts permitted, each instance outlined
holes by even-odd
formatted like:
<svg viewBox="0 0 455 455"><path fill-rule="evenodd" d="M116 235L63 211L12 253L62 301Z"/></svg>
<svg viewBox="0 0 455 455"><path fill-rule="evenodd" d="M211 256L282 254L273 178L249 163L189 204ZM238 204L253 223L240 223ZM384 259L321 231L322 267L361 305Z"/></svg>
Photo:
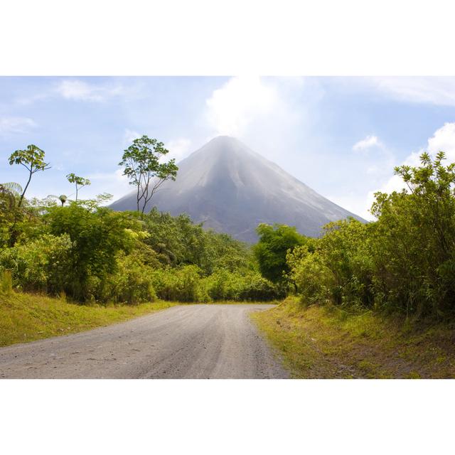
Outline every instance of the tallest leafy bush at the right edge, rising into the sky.
<svg viewBox="0 0 455 455"><path fill-rule="evenodd" d="M416 317L455 312L455 164L444 160L424 153L395 168L408 190L376 193L371 210L376 291Z"/></svg>

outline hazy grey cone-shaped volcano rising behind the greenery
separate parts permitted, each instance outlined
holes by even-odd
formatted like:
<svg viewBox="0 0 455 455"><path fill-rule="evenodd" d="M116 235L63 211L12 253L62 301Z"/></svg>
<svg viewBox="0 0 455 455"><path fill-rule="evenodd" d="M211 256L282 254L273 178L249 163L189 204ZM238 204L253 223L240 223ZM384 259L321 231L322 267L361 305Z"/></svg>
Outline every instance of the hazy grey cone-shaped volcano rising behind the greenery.
<svg viewBox="0 0 455 455"><path fill-rule="evenodd" d="M330 221L362 220L232 137L212 139L178 166L176 181L164 183L146 210L156 205L172 215L188 213L205 228L246 242L257 240L259 223L296 226L316 237ZM135 210L134 192L111 208Z"/></svg>

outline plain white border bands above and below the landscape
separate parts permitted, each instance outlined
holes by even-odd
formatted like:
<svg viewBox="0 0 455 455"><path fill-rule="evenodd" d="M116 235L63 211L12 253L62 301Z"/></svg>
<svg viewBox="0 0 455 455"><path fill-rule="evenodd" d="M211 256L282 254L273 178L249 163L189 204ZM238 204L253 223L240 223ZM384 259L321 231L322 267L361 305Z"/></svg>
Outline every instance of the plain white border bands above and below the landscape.
<svg viewBox="0 0 455 455"><path fill-rule="evenodd" d="M0 74L454 75L454 17L439 0L4 1ZM452 380L3 380L0 451L441 454L454 396Z"/></svg>

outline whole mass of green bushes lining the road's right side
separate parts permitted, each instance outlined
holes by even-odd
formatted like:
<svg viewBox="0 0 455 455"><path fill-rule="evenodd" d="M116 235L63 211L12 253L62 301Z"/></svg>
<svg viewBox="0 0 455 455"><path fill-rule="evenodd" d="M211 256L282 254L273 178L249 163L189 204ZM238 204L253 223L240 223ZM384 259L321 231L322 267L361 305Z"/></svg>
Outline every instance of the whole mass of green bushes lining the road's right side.
<svg viewBox="0 0 455 455"><path fill-rule="evenodd" d="M395 173L407 191L377 193L375 223L326 226L313 253L288 255L305 301L402 311L414 318L455 311L455 164L422 154Z"/></svg>

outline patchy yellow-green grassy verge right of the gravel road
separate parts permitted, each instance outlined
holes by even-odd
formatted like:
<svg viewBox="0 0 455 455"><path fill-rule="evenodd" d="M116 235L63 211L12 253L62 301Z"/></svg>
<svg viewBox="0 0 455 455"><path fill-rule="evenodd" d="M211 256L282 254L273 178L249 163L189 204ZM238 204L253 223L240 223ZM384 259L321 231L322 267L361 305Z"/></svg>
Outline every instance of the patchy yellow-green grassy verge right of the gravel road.
<svg viewBox="0 0 455 455"><path fill-rule="evenodd" d="M287 299L252 314L294 378L455 378L455 328Z"/></svg>

